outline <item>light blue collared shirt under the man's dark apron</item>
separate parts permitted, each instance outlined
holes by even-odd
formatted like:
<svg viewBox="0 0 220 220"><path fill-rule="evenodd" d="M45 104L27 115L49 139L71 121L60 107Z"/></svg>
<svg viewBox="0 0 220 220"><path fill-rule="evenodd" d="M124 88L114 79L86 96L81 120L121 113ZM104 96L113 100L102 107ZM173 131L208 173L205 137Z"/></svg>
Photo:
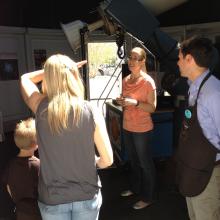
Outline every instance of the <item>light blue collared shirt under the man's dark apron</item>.
<svg viewBox="0 0 220 220"><path fill-rule="evenodd" d="M194 82L189 81L189 105L194 105L199 86L209 70ZM205 137L220 150L220 80L213 75L205 82L197 100L197 117ZM216 160L220 160L220 153Z"/></svg>

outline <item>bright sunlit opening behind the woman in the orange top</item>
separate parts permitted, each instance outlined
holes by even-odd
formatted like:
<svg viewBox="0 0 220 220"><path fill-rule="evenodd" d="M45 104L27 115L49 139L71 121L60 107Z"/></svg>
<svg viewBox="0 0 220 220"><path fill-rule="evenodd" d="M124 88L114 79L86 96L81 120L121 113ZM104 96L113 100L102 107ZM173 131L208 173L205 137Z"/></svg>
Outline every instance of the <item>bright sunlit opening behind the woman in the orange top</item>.
<svg viewBox="0 0 220 220"><path fill-rule="evenodd" d="M89 99L105 115L105 102L121 94L121 63L115 42L88 43Z"/></svg>

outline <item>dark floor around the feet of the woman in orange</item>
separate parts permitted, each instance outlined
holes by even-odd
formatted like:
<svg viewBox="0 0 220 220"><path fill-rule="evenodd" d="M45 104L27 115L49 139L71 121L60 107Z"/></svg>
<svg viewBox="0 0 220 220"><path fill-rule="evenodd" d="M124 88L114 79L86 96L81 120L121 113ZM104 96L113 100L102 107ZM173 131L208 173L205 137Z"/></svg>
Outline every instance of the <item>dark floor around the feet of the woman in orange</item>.
<svg viewBox="0 0 220 220"><path fill-rule="evenodd" d="M185 199L176 190L169 161L156 162L157 200L150 207L134 210L135 196L120 197L127 189L126 169L119 167L99 171L102 181L103 205L99 220L188 220Z"/></svg>

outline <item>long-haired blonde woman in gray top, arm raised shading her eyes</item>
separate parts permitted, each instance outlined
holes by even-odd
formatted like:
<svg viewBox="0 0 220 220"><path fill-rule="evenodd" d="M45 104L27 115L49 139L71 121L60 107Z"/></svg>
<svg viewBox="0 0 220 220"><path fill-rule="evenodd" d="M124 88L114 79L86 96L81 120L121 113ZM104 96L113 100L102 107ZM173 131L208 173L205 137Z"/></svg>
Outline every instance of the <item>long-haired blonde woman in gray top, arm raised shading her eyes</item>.
<svg viewBox="0 0 220 220"><path fill-rule="evenodd" d="M98 219L102 196L96 167L113 162L104 117L84 100L78 67L85 63L52 55L43 70L21 76L24 101L36 116L44 220Z"/></svg>

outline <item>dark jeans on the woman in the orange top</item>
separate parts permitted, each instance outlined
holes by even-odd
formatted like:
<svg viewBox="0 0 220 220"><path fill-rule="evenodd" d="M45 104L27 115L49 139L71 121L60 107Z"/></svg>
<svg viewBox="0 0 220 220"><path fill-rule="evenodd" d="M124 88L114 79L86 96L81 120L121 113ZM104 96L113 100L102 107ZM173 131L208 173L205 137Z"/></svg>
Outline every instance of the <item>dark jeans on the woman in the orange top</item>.
<svg viewBox="0 0 220 220"><path fill-rule="evenodd" d="M151 152L152 131L123 130L124 146L130 163L131 191L145 202L152 202L155 194L155 166Z"/></svg>

